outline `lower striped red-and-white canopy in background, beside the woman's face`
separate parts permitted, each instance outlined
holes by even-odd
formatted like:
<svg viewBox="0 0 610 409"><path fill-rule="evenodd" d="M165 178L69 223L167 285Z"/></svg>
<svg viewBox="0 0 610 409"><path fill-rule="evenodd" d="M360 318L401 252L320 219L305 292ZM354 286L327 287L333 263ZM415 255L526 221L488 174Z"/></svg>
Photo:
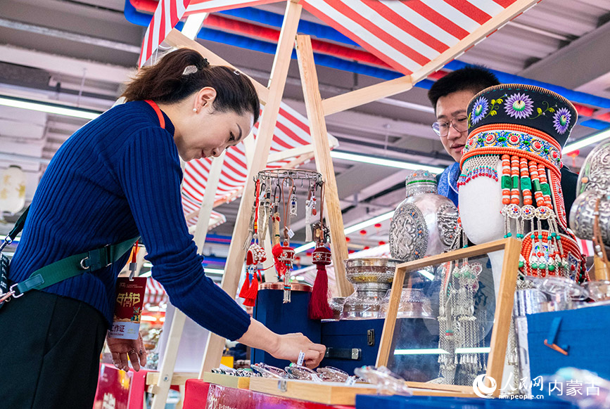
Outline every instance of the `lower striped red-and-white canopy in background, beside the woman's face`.
<svg viewBox="0 0 610 409"><path fill-rule="evenodd" d="M255 137L258 134L258 124L255 126L253 134ZM281 103L271 145L271 153L283 152L303 145L310 145L311 143L312 138L307 118L300 115L299 112L293 110L286 103ZM299 162L298 157L291 157L286 160L269 163L267 168L286 167L295 160ZM212 159L205 158L191 160L184 168L182 205L189 224L193 224L192 219L188 217L189 214L198 212L198 209L201 207L211 166ZM246 151L242 142L227 150L222 174L216 190L215 202L229 201L239 197L243 186L246 184L247 175Z"/></svg>

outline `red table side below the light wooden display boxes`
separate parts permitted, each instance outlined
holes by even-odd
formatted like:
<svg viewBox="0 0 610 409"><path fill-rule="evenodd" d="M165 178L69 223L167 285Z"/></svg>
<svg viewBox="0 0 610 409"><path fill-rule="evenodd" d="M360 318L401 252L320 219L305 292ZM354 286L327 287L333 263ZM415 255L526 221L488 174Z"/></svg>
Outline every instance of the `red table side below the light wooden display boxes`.
<svg viewBox="0 0 610 409"><path fill-rule="evenodd" d="M248 389L236 389L209 384L200 379L186 381L184 409L354 409L353 406L323 405L263 394Z"/></svg>

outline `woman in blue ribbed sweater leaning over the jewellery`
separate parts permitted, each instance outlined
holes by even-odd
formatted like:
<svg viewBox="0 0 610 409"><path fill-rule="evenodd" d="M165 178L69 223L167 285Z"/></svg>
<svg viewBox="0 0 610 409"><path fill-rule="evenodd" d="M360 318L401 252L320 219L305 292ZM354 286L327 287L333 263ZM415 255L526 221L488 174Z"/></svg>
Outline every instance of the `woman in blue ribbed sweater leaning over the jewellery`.
<svg viewBox="0 0 610 409"><path fill-rule="evenodd" d="M127 103L89 122L51 160L11 262L11 283L91 249L141 235L172 304L223 337L317 366L324 346L277 335L206 277L182 213L179 158L216 157L245 138L260 105L250 80L181 49L144 68ZM106 268L32 290L0 310L4 408L91 408L115 282L129 253ZM146 363L139 340L109 341L113 361Z"/></svg>

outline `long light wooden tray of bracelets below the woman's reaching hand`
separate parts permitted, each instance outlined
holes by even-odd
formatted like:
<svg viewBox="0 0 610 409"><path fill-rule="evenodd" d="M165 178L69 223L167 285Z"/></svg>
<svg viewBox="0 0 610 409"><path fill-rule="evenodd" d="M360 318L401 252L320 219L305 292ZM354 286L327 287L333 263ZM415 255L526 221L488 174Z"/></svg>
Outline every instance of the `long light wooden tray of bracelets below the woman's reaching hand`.
<svg viewBox="0 0 610 409"><path fill-rule="evenodd" d="M355 405L356 395L374 395L376 387L369 384L348 386L340 382L312 382L295 379L250 378L250 391L324 403L326 405Z"/></svg>

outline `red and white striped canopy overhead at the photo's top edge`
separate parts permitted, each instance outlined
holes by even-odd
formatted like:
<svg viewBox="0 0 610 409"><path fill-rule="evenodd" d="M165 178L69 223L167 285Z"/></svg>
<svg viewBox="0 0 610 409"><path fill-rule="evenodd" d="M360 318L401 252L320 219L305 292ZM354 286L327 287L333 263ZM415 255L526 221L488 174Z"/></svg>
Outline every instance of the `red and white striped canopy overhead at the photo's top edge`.
<svg viewBox="0 0 610 409"><path fill-rule="evenodd" d="M412 74L515 1L300 0L300 3L390 67L402 74ZM279 0L161 0L144 38L140 65L183 15L274 2Z"/></svg>

